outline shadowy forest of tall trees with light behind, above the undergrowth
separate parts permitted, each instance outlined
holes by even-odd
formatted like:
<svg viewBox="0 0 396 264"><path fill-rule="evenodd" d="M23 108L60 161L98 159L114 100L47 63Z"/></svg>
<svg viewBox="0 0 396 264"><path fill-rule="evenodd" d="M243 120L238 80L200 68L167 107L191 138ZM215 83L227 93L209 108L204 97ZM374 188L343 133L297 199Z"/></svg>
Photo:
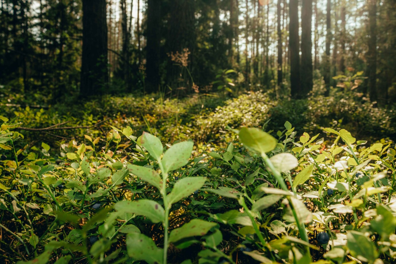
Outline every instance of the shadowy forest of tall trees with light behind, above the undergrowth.
<svg viewBox="0 0 396 264"><path fill-rule="evenodd" d="M395 100L395 0L1 0L0 84L53 102L105 93L240 90L303 98L364 72ZM338 79L339 80L339 79ZM221 86L221 85L220 85ZM223 86L221 86L223 87ZM221 88L219 87L219 89ZM175 92L177 91L177 93Z"/></svg>

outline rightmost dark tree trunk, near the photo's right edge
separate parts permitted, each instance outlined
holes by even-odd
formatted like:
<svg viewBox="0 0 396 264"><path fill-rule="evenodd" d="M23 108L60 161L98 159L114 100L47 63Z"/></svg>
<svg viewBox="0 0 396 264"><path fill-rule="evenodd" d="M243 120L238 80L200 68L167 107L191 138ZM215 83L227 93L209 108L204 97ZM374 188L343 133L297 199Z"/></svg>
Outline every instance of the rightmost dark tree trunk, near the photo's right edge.
<svg viewBox="0 0 396 264"><path fill-rule="evenodd" d="M369 39L367 53L368 92L372 102L377 101L377 1L368 0Z"/></svg>

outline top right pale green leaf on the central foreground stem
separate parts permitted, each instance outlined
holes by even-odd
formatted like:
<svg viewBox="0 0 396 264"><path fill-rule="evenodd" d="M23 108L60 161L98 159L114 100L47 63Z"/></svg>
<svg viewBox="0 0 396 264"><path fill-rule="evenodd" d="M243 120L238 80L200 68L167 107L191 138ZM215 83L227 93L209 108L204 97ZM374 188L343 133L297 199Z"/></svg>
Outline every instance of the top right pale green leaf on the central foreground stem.
<svg viewBox="0 0 396 264"><path fill-rule="evenodd" d="M162 158L162 166L165 170L164 173L174 171L186 165L191 156L193 146L194 142L184 141L176 143L166 150Z"/></svg>

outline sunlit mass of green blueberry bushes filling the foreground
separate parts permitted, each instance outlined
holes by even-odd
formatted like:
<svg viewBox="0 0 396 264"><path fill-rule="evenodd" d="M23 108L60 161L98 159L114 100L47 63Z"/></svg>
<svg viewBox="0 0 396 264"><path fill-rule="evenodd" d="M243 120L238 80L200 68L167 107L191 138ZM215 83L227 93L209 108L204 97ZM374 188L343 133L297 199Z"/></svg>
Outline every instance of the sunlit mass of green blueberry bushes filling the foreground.
<svg viewBox="0 0 396 264"><path fill-rule="evenodd" d="M164 146L127 126L56 150L0 120L1 263L396 261L392 141L286 122Z"/></svg>

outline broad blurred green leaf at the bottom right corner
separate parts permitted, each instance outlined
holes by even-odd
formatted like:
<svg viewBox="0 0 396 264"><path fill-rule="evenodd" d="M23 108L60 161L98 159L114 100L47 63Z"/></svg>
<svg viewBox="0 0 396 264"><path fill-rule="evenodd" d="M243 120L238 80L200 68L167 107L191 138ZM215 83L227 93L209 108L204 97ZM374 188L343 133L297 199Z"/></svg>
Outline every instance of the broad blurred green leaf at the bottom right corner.
<svg viewBox="0 0 396 264"><path fill-rule="evenodd" d="M350 251L350 255L360 261L373 263L378 253L375 244L364 234L350 230L346 235L346 246Z"/></svg>

